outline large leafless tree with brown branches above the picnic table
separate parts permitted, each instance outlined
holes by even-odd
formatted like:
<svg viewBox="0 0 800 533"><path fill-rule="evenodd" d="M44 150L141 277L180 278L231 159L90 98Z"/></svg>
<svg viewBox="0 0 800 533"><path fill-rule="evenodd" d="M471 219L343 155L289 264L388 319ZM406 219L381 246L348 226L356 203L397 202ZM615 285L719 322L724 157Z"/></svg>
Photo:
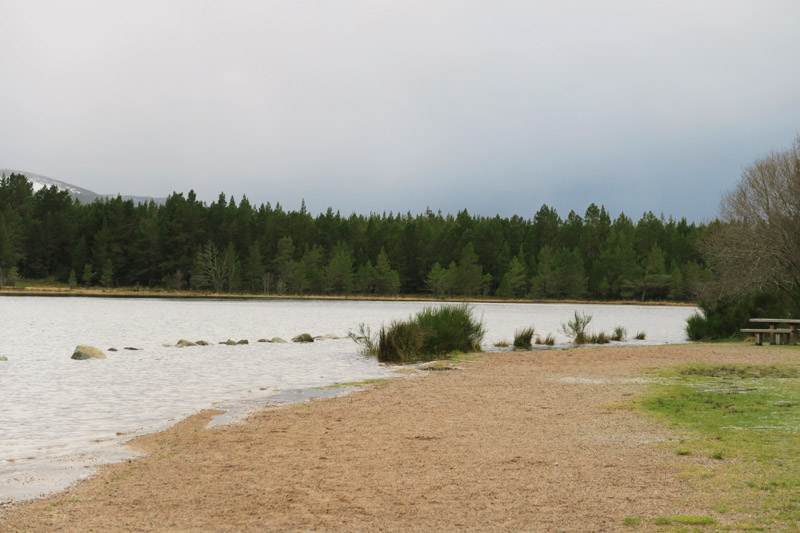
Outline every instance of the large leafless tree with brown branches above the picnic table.
<svg viewBox="0 0 800 533"><path fill-rule="evenodd" d="M704 241L716 296L776 289L800 300L800 136L744 170L720 219Z"/></svg>

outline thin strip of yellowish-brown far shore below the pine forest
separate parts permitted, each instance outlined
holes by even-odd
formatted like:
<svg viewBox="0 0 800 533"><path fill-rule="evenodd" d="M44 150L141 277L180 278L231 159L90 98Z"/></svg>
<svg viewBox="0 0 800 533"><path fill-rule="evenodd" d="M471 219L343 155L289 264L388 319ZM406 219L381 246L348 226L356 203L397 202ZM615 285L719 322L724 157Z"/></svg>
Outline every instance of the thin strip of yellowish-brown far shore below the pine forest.
<svg viewBox="0 0 800 533"><path fill-rule="evenodd" d="M640 301L640 300L543 300L527 298L496 297L446 297L436 298L431 295L413 294L397 296L378 295L331 295L331 294L255 294L255 293L212 293L197 291L169 291L160 289L142 289L134 287L75 288L58 285L30 285L24 287L0 289L0 296L61 296L91 298L177 298L198 300L357 300L387 302L470 302L470 303L523 303L523 304L575 304L575 305L652 305L696 307L694 302Z"/></svg>

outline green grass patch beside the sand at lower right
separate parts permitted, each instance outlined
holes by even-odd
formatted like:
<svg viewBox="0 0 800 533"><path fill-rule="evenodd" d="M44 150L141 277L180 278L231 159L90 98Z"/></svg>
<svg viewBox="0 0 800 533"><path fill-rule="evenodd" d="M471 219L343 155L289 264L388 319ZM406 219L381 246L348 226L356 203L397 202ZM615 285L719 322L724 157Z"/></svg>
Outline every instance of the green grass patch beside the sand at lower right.
<svg viewBox="0 0 800 533"><path fill-rule="evenodd" d="M667 379L638 398L637 408L692 435L671 444L676 454L724 460L680 467L693 499L754 516L749 530L798 527L800 367L693 364L660 374ZM659 520L712 523L679 518ZM684 520L694 518L704 517Z"/></svg>

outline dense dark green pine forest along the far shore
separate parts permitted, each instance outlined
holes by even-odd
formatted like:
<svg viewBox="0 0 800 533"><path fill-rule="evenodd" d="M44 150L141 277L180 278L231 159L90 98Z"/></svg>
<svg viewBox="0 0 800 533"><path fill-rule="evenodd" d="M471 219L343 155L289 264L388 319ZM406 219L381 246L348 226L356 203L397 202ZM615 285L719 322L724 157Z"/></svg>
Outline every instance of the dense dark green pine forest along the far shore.
<svg viewBox="0 0 800 533"><path fill-rule="evenodd" d="M561 218L427 210L311 215L193 191L164 204L90 204L0 179L0 284L14 276L71 286L260 294L674 300L713 277L698 252L705 225L644 213L613 220L590 205Z"/></svg>

